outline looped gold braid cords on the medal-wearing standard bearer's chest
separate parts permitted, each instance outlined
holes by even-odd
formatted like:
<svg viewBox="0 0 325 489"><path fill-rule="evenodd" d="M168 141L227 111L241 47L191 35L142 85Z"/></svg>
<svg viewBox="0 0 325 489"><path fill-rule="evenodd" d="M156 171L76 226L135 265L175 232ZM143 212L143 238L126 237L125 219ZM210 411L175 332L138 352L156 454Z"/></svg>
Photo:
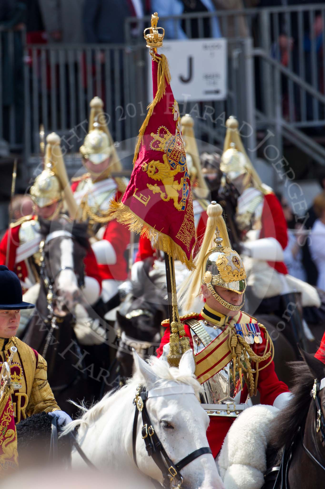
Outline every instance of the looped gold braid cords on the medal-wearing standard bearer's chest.
<svg viewBox="0 0 325 489"><path fill-rule="evenodd" d="M274 357L274 346L268 331L262 324L258 323L258 325L260 329L263 330L266 338L266 345L262 356L256 355L256 353L251 349L250 345L246 343L245 339L236 334L235 328L232 325L230 325L228 340L229 350L232 356L233 380L235 382L236 367L239 374L241 374L241 371L243 370L250 397L256 396L259 372L267 368L273 361ZM244 354L244 362L246 366L241 361L242 353ZM264 362L266 360L268 360L268 362L263 365L263 367L260 367L260 362ZM251 366L252 361L255 362L255 369L253 369ZM255 380L253 374L255 374Z"/></svg>

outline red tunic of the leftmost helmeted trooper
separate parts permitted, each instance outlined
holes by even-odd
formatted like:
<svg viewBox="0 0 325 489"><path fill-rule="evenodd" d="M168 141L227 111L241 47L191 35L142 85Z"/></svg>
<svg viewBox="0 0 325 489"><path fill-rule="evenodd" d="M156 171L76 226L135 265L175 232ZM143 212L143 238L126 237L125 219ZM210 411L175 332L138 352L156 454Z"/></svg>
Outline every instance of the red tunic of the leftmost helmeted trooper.
<svg viewBox="0 0 325 489"><path fill-rule="evenodd" d="M35 219L35 217L36 216L32 216L31 219ZM10 233L10 246L9 246L7 267L9 268L9 270L14 271L16 275L18 275L19 280L21 280L21 282L24 282L25 279L28 278L26 261L22 260L21 262L16 263L16 252L20 244L19 243L20 226L21 224L14 226L11 229L7 229L7 231L5 232L0 242L0 265L6 265L7 243L8 243L9 233ZM31 255L32 254L33 253L31 253ZM89 246L87 250L87 254L84 258L84 264L85 264L85 274L88 275L89 277L95 278L101 289L102 279L98 270L99 265L97 265L96 256L91 246ZM24 292L26 292L26 289L23 288L23 293Z"/></svg>

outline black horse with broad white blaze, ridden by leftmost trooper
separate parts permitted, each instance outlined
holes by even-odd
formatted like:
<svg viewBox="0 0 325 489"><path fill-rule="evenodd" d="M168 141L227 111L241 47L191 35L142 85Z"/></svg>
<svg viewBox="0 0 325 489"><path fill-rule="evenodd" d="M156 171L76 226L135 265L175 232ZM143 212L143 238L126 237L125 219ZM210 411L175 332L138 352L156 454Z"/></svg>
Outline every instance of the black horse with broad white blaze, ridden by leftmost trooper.
<svg viewBox="0 0 325 489"><path fill-rule="evenodd" d="M104 387L108 390L110 386L108 332L105 322L82 296L83 262L90 246L87 223L73 223L62 217L40 224L44 239L40 291L22 339L45 357L57 403L74 416L76 408L69 399L92 404L100 399ZM63 273L68 274L65 281L60 280ZM76 334L76 306L80 304L88 314L86 328L89 325L90 334L93 327L100 330L103 340L80 343Z"/></svg>

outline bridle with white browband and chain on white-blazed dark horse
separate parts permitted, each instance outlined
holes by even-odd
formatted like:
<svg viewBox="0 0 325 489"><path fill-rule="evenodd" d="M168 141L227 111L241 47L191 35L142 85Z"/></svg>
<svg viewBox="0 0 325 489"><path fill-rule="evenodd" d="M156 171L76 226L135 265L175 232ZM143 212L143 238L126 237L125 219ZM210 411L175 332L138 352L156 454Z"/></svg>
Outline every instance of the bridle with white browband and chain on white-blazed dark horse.
<svg viewBox="0 0 325 489"><path fill-rule="evenodd" d="M50 330L46 336L46 340L45 340L45 344L44 344L44 348L43 348L43 352L42 352L42 356L44 358L46 356L48 347L50 345L50 342L51 342L51 339L53 336L53 332L55 329L57 329L56 316L54 314L53 307L52 307L53 299L57 298L57 295L54 293L54 289L53 289L55 280L57 278L57 275L63 270L72 270L76 274L75 269L73 267L60 267L57 270L57 273L54 275L54 277L52 277L52 279L50 279L48 276L48 273L46 271L44 246L45 246L45 244L49 243L54 238L59 238L59 237L63 237L63 236L65 236L67 238L73 238L73 235L69 231L65 231L64 229L62 229L62 230L57 230L57 231L53 231L52 233L49 233L46 236L45 240L42 240L39 244L39 251L40 251L39 274L40 274L40 277L41 277L43 284L44 284L44 288L45 288L45 292L46 292L47 309L48 309L48 316L47 316L46 321L51 322L51 328L50 328ZM78 274L76 274L76 275L77 275L77 280L78 280L78 287L82 287L84 285L84 276L79 277Z"/></svg>

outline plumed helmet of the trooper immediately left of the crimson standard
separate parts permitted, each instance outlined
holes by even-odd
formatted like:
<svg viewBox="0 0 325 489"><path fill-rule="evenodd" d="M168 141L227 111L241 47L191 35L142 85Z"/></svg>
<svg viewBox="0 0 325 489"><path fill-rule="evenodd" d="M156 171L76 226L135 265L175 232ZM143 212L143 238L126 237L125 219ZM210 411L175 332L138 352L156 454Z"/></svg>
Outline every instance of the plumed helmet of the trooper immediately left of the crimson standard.
<svg viewBox="0 0 325 489"><path fill-rule="evenodd" d="M122 167L106 124L103 106L104 103L99 97L94 97L90 102L89 131L80 147L80 153L84 160L89 160L94 165L110 158L110 172L118 172Z"/></svg>

